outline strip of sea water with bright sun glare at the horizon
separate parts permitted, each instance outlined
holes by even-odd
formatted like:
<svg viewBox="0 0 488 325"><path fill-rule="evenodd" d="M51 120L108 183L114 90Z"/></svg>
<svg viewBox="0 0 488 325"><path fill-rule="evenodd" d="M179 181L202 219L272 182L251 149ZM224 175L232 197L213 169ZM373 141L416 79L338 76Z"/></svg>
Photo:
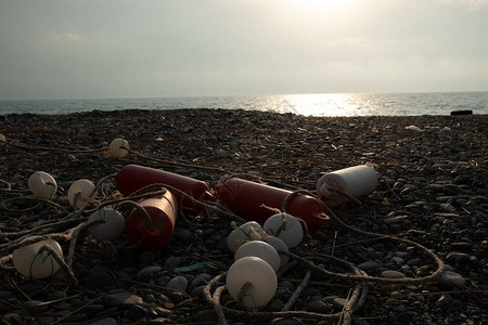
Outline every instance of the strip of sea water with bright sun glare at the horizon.
<svg viewBox="0 0 488 325"><path fill-rule="evenodd" d="M0 115L69 114L123 109L223 108L306 116L449 115L452 110L488 114L488 92L323 93L154 99L0 101Z"/></svg>

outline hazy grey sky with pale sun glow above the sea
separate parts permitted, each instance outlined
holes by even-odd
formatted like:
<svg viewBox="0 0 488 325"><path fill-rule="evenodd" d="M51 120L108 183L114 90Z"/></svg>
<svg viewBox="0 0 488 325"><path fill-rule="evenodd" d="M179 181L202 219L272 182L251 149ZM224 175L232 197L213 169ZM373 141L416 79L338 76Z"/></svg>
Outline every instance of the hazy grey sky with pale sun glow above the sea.
<svg viewBox="0 0 488 325"><path fill-rule="evenodd" d="M0 99L488 90L488 0L0 0Z"/></svg>

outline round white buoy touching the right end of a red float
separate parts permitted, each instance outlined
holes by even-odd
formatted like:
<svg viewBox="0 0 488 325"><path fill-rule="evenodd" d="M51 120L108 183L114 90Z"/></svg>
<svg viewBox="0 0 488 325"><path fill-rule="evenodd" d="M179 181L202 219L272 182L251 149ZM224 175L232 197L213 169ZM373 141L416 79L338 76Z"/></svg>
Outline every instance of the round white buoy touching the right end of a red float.
<svg viewBox="0 0 488 325"><path fill-rule="evenodd" d="M304 230L299 220L288 213L277 213L269 217L262 229L269 234L282 239L288 248L301 243Z"/></svg>

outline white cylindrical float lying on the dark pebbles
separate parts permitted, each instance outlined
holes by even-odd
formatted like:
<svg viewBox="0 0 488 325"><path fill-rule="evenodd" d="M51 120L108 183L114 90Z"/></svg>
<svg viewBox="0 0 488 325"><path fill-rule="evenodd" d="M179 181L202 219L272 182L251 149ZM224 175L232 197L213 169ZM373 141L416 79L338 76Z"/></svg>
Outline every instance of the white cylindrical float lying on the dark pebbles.
<svg viewBox="0 0 488 325"><path fill-rule="evenodd" d="M374 168L360 165L321 177L317 182L317 194L326 205L335 207L345 204L347 196L359 198L372 193L376 185L377 174Z"/></svg>

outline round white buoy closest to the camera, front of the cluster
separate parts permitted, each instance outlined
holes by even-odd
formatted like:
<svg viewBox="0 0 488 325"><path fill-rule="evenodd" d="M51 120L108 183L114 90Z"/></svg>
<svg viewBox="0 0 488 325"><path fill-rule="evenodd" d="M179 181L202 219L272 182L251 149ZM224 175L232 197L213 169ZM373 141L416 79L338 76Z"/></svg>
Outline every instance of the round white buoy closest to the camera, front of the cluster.
<svg viewBox="0 0 488 325"><path fill-rule="evenodd" d="M266 307L277 292L278 278L273 269L257 257L236 260L227 272L226 285L229 294L239 299L242 287L249 283L242 303L248 309Z"/></svg>

